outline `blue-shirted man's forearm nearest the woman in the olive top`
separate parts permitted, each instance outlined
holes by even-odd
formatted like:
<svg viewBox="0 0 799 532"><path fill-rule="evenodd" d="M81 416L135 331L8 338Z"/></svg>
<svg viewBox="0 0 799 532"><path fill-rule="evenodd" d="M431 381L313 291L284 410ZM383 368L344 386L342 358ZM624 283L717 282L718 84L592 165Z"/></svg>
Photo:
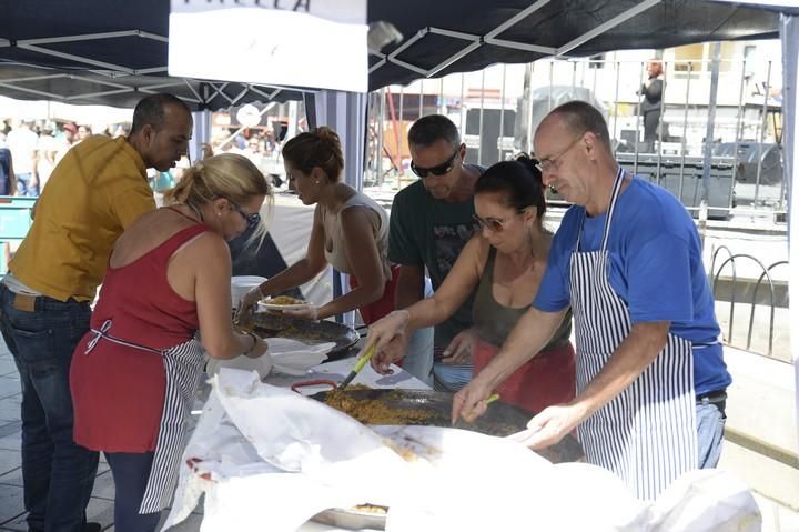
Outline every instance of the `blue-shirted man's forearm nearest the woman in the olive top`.
<svg viewBox="0 0 799 532"><path fill-rule="evenodd" d="M499 353L478 375L495 389L514 371L547 344L563 321L567 309L560 312L542 312L530 308L516 323Z"/></svg>

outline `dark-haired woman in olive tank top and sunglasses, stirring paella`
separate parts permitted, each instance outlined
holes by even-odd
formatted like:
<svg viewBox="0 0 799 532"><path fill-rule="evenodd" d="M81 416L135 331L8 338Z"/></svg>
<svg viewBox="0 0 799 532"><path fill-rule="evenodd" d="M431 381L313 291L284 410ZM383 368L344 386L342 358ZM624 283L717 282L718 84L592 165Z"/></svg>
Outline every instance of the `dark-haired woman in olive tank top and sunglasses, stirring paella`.
<svg viewBox="0 0 799 532"><path fill-rule="evenodd" d="M453 340L444 361L472 361L476 374L497 353L538 292L552 243L553 234L543 224L546 200L536 163L526 157L503 161L477 180L475 219L481 233L466 244L432 298L370 327L364 350L376 344L372 359L376 369L396 359L392 349L396 335L442 322L475 288L475 325ZM570 333L568 312L549 344L497 389L502 400L534 412L572 400L575 355Z"/></svg>

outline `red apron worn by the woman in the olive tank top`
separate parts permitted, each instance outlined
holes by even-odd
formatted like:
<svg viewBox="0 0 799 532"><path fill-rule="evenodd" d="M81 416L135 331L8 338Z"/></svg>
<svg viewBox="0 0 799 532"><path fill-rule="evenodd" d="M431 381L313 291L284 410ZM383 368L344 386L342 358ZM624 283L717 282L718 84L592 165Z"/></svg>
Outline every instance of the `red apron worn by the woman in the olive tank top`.
<svg viewBox="0 0 799 532"><path fill-rule="evenodd" d="M499 351L494 344L477 339L474 347L474 373ZM500 401L538 413L546 406L572 401L576 391L575 352L572 342L538 353L513 372L495 390Z"/></svg>

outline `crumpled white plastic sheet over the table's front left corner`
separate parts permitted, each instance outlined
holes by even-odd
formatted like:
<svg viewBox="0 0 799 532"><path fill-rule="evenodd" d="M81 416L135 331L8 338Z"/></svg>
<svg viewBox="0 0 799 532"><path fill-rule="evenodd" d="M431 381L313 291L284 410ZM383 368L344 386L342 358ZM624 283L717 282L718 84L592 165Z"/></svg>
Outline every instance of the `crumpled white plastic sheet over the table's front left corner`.
<svg viewBox="0 0 799 532"><path fill-rule="evenodd" d="M271 532L294 532L322 510L387 503L406 485L406 462L354 419L254 372L223 368L211 383L163 530L203 493L202 532L263 530L265 520Z"/></svg>

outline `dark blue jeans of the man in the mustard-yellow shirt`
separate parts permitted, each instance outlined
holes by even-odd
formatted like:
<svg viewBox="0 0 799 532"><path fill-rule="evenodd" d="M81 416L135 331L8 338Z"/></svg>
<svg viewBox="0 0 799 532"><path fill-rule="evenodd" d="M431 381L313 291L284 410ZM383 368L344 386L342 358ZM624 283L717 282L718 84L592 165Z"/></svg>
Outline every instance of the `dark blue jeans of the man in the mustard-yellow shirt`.
<svg viewBox="0 0 799 532"><path fill-rule="evenodd" d="M72 439L72 352L89 330L89 303L21 297L0 284L0 330L22 388L22 483L31 531L79 532L98 453Z"/></svg>

